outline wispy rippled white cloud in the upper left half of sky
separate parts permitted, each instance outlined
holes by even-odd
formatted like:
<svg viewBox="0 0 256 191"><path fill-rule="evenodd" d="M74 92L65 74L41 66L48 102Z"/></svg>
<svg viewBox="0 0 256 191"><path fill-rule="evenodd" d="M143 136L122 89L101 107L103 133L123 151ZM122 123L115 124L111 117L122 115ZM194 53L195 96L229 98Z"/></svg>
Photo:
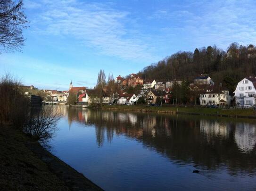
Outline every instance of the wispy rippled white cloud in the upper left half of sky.
<svg viewBox="0 0 256 191"><path fill-rule="evenodd" d="M58 1L58 2L57 2ZM72 37L99 53L127 60L156 60L147 37L133 28L130 13L108 4L76 0L41 1L43 13L36 19L37 31L44 35Z"/></svg>

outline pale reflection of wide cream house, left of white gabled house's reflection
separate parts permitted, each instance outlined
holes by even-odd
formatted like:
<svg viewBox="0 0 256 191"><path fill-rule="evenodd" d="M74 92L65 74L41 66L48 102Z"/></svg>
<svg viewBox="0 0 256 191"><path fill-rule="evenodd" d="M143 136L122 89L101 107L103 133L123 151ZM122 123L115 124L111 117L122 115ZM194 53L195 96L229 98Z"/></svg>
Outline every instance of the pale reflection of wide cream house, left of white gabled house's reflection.
<svg viewBox="0 0 256 191"><path fill-rule="evenodd" d="M210 120L200 120L200 132L206 135L207 141L216 136L229 138L231 131L230 123Z"/></svg>

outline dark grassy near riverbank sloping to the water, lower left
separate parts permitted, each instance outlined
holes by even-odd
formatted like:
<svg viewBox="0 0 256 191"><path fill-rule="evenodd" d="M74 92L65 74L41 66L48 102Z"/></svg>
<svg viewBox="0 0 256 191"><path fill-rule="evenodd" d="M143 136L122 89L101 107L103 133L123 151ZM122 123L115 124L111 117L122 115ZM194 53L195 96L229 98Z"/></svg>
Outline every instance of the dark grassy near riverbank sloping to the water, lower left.
<svg viewBox="0 0 256 191"><path fill-rule="evenodd" d="M0 127L2 190L101 190L24 133Z"/></svg>

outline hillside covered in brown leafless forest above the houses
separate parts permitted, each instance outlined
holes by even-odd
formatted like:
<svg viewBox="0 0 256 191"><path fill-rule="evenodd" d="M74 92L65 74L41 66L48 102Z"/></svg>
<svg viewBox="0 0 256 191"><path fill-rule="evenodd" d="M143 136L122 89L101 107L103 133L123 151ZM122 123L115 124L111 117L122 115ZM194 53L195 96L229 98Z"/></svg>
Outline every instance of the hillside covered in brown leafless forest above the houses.
<svg viewBox="0 0 256 191"><path fill-rule="evenodd" d="M184 79L209 75L215 83L232 86L244 76L256 75L256 48L232 43L223 51L217 46L196 48L192 52L178 52L156 64L144 68L139 75L143 79Z"/></svg>

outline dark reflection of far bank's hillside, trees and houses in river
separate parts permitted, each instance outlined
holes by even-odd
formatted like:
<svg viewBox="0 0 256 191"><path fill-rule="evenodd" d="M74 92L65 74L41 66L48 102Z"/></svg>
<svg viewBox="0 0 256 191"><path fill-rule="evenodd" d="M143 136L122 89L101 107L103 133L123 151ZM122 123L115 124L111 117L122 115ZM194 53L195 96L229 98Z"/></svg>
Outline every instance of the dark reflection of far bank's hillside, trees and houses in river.
<svg viewBox="0 0 256 191"><path fill-rule="evenodd" d="M77 108L68 115L71 121L94 125L99 146L105 137L111 142L115 134L125 135L173 162L193 162L208 168L227 164L232 172L256 168L256 126L247 122Z"/></svg>

